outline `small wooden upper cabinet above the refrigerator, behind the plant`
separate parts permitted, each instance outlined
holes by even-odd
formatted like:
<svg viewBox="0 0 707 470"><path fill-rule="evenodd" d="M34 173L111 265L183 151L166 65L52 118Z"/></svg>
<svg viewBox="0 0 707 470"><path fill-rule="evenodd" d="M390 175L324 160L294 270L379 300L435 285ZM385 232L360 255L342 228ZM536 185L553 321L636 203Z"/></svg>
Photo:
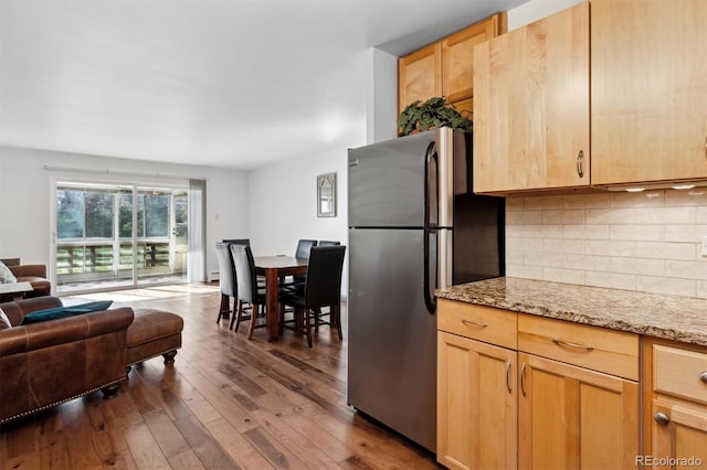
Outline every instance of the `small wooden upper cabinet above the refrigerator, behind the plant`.
<svg viewBox="0 0 707 470"><path fill-rule="evenodd" d="M474 46L506 32L506 13L461 30L398 60L398 113L415 100L446 96L457 109L471 110Z"/></svg>

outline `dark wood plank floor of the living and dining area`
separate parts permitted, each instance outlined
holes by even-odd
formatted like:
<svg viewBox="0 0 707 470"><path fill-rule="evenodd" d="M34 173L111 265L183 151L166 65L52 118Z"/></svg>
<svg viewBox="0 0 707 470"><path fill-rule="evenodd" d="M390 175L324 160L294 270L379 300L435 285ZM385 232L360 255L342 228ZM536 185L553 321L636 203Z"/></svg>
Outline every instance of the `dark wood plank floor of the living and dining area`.
<svg viewBox="0 0 707 470"><path fill-rule="evenodd" d="M134 367L114 399L95 393L6 424L2 469L437 468L433 456L346 404L346 338L328 327L313 349L292 331L267 343L258 329L247 341L245 325L234 333L225 320L215 323L215 286L64 301L87 297L179 313L177 361Z"/></svg>

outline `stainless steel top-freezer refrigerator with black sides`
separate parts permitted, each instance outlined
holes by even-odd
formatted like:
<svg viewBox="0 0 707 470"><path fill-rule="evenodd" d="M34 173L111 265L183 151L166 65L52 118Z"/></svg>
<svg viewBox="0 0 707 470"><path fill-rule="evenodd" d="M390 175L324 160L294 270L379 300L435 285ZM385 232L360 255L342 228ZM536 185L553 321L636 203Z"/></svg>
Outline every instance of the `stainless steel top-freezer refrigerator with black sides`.
<svg viewBox="0 0 707 470"><path fill-rule="evenodd" d="M434 290L504 274L504 199L472 193L471 135L348 153L347 402L436 448Z"/></svg>

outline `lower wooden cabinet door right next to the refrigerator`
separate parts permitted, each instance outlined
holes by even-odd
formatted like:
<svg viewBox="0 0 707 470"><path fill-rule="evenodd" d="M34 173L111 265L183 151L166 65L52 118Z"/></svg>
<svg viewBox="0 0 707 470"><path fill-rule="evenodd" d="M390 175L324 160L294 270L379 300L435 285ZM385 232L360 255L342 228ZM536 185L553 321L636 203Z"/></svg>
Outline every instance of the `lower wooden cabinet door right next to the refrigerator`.
<svg viewBox="0 0 707 470"><path fill-rule="evenodd" d="M437 460L453 469L517 464L516 352L437 333Z"/></svg>

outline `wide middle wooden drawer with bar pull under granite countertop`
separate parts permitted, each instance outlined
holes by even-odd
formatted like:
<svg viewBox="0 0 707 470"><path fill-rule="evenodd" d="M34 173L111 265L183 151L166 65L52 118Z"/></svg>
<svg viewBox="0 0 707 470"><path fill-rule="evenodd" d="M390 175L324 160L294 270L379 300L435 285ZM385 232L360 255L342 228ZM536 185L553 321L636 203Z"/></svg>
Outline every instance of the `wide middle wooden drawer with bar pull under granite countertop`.
<svg viewBox="0 0 707 470"><path fill-rule="evenodd" d="M634 333L519 314L518 350L639 380L639 335Z"/></svg>

